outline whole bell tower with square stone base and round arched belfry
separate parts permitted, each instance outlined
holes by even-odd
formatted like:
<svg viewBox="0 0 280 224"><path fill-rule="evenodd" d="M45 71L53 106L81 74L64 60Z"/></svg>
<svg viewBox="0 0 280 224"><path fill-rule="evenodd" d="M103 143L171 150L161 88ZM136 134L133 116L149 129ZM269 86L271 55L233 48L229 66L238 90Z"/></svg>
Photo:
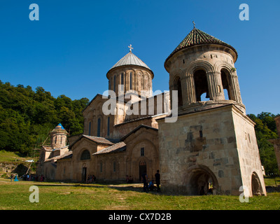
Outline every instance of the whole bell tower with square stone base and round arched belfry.
<svg viewBox="0 0 280 224"><path fill-rule="evenodd" d="M158 120L162 190L266 195L236 60L235 48L195 27L165 60L171 100L178 91L178 116L174 123Z"/></svg>

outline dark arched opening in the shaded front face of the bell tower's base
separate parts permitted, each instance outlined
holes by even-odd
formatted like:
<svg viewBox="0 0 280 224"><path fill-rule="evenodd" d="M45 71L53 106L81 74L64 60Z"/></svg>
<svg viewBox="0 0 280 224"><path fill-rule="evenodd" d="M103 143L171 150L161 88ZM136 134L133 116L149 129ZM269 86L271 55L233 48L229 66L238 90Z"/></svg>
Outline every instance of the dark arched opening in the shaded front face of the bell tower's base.
<svg viewBox="0 0 280 224"><path fill-rule="evenodd" d="M216 195L218 180L204 165L195 165L187 170L186 187L188 195Z"/></svg>

